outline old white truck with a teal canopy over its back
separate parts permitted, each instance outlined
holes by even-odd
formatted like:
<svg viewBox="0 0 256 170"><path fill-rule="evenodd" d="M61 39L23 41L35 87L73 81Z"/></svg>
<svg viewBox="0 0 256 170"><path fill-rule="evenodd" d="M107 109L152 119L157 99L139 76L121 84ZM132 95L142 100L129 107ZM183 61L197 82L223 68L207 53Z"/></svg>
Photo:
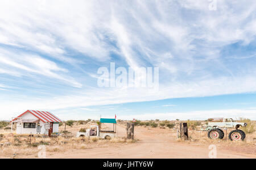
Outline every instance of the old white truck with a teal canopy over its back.
<svg viewBox="0 0 256 170"><path fill-rule="evenodd" d="M116 136L117 122L115 119L100 119L100 124L102 123L112 123L113 130L101 130L101 125L92 125L90 128L86 129L86 132L77 132L76 137L90 137L90 138L102 138L111 139Z"/></svg>

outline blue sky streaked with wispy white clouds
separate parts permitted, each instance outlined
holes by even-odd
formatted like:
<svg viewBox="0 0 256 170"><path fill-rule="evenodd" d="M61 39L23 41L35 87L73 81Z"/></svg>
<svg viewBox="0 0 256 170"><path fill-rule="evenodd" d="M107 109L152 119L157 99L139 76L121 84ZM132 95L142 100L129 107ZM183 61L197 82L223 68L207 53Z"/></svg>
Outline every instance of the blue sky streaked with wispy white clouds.
<svg viewBox="0 0 256 170"><path fill-rule="evenodd" d="M0 1L0 119L256 120L256 1ZM159 68L158 90L98 69ZM143 76L142 76L143 78Z"/></svg>

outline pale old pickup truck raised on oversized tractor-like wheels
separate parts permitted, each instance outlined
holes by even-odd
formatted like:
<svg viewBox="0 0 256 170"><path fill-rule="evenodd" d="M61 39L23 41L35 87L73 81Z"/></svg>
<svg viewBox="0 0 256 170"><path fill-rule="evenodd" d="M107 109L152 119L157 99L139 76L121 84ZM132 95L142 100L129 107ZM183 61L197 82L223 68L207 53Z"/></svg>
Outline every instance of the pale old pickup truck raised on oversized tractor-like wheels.
<svg viewBox="0 0 256 170"><path fill-rule="evenodd" d="M206 130L208 130L208 137L210 139L223 139L224 131L221 128L236 128L229 132L230 140L243 140L245 139L245 132L238 129L240 127L246 127L247 123L234 122L232 118L210 118Z"/></svg>

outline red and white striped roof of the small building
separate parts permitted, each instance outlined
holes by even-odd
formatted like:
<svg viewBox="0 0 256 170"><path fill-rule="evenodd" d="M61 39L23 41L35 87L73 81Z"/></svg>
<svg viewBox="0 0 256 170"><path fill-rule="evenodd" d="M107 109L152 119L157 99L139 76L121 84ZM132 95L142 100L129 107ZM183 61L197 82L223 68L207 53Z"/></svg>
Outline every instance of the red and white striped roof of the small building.
<svg viewBox="0 0 256 170"><path fill-rule="evenodd" d="M56 117L56 115L50 113L49 111L27 110L23 114L27 112L31 113L32 115L34 115L36 118L40 119L44 123L62 122L61 119L59 119L58 117ZM18 118L21 117L23 114L19 115ZM13 121L15 121L16 119L17 118L13 119Z"/></svg>

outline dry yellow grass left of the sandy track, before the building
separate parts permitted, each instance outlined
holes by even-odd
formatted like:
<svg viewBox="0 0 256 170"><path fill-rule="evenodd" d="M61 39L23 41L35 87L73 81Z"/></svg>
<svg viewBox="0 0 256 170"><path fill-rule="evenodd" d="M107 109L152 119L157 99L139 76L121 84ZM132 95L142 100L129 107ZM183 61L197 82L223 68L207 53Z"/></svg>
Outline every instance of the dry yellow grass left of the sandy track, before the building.
<svg viewBox="0 0 256 170"><path fill-rule="evenodd" d="M10 135L10 132L0 132L3 137L0 138L0 144L3 144L0 148L1 157L37 157L38 146L46 146L47 154L53 152L65 152L71 149L86 150L93 147L108 147L113 144L120 143L133 143L135 141L127 140L126 138L112 138L109 140L99 138L76 138L76 132L80 128L89 128L92 123L87 125L73 125L72 127L66 126L66 131L69 131L68 136L57 136L49 138L43 138L42 135L34 135L30 138L28 135ZM102 127L105 129L107 127ZM64 126L60 126L60 131L64 131ZM30 141L31 139L31 141Z"/></svg>

